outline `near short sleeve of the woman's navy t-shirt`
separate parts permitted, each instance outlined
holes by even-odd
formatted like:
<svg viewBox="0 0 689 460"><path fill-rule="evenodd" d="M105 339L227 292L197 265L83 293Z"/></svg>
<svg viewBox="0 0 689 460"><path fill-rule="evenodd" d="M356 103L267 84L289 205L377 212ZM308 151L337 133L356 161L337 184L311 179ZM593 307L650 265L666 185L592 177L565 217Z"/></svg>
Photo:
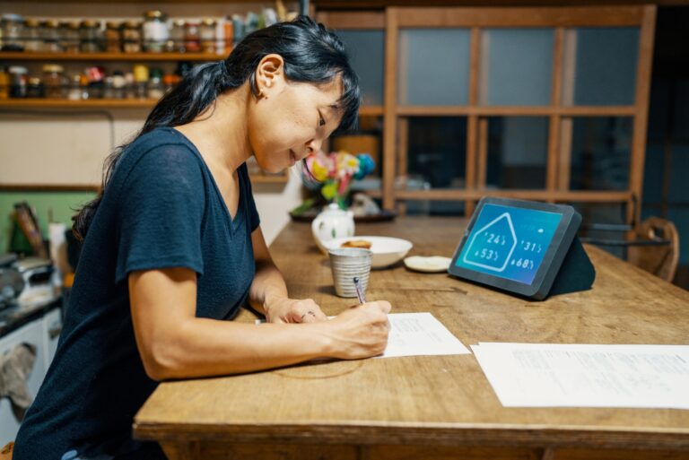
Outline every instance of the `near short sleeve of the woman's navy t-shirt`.
<svg viewBox="0 0 689 460"><path fill-rule="evenodd" d="M205 187L196 154L183 144L144 152L118 199L115 282L136 270L187 267L203 274Z"/></svg>

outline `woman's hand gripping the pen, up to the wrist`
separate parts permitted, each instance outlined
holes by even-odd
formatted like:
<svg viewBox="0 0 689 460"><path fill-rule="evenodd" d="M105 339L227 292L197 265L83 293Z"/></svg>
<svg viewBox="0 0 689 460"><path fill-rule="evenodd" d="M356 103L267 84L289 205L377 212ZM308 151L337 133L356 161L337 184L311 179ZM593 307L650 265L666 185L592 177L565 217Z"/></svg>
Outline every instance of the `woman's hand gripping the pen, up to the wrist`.
<svg viewBox="0 0 689 460"><path fill-rule="evenodd" d="M349 308L327 322L333 341L333 358L358 360L385 352L388 346L388 313L385 300Z"/></svg>

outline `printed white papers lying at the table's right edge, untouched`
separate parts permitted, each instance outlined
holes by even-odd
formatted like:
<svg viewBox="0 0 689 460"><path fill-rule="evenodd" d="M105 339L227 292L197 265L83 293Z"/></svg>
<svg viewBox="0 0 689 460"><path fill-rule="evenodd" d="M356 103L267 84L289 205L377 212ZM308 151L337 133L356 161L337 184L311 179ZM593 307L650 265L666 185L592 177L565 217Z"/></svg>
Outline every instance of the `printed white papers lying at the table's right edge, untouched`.
<svg viewBox="0 0 689 460"><path fill-rule="evenodd" d="M472 345L508 407L689 409L689 346Z"/></svg>

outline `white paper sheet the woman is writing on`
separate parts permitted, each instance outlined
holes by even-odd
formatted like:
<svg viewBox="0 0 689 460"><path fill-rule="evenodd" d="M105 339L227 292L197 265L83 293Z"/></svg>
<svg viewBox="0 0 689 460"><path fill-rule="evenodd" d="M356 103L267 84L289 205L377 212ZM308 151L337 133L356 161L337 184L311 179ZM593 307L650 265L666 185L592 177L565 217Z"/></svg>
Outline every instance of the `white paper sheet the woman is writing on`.
<svg viewBox="0 0 689 460"><path fill-rule="evenodd" d="M431 313L390 313L388 321L388 348L376 358L471 353Z"/></svg>

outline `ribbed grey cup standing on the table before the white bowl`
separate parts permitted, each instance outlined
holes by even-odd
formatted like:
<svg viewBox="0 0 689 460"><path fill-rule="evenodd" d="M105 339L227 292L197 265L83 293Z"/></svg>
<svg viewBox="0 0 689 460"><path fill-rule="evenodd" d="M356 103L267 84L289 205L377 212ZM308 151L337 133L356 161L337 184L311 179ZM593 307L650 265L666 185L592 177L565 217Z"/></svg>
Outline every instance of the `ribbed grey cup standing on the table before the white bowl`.
<svg viewBox="0 0 689 460"><path fill-rule="evenodd" d="M335 293L339 297L356 297L354 277L359 278L362 291L365 293L369 286L373 253L368 249L358 247L339 247L327 252L330 255Z"/></svg>

